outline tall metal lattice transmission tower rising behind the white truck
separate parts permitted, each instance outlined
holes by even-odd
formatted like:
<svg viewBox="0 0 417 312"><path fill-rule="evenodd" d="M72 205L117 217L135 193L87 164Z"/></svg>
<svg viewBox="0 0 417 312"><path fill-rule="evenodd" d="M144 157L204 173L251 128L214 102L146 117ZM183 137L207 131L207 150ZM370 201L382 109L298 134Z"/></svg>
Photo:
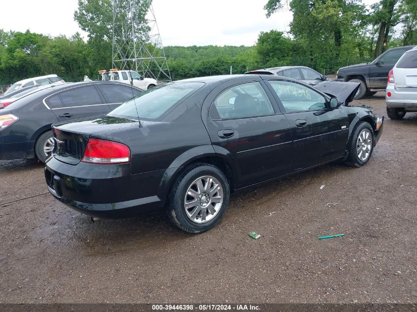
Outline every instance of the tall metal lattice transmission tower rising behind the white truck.
<svg viewBox="0 0 417 312"><path fill-rule="evenodd" d="M113 0L113 66L171 81L152 0Z"/></svg>

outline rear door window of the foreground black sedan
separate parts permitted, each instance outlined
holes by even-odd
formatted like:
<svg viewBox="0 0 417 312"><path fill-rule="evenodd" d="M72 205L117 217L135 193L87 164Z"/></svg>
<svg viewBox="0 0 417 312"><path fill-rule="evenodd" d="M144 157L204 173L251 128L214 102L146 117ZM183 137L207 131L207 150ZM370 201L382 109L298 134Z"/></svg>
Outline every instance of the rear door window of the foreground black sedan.
<svg viewBox="0 0 417 312"><path fill-rule="evenodd" d="M274 113L259 82L243 83L223 91L210 108L210 118L213 120L268 116Z"/></svg>

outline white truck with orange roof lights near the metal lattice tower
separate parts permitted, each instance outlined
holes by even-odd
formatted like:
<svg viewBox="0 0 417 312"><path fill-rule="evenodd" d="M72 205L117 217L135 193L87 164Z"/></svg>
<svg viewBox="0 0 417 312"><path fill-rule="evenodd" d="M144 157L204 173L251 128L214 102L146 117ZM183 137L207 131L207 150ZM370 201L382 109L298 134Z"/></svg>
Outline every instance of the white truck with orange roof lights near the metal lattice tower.
<svg viewBox="0 0 417 312"><path fill-rule="evenodd" d="M118 69L110 69L107 70L99 70L99 74L101 74L101 80L103 81L118 81L127 84L133 84L135 87L138 87L142 90L148 90L154 86L156 86L157 81L152 78L144 78L136 71L133 70L118 70Z"/></svg>

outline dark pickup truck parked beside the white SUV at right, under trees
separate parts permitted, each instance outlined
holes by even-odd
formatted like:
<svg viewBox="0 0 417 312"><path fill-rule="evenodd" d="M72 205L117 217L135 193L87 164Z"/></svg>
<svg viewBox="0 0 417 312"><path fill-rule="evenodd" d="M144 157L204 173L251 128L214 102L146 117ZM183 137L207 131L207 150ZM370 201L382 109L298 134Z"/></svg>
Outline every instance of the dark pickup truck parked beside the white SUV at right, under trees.
<svg viewBox="0 0 417 312"><path fill-rule="evenodd" d="M371 63L342 67L338 70L335 80L359 82L361 85L356 92L355 100L374 95L377 91L385 90L389 71L406 51L414 47L408 45L388 49Z"/></svg>

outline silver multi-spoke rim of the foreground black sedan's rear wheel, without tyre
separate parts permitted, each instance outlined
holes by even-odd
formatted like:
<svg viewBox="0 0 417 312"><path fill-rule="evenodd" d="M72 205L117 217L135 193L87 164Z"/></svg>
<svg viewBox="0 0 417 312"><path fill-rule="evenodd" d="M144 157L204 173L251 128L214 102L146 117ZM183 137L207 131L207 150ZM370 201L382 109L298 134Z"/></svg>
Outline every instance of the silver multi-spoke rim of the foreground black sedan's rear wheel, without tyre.
<svg viewBox="0 0 417 312"><path fill-rule="evenodd" d="M223 187L214 176L195 179L184 198L184 209L192 222L206 223L212 220L223 204Z"/></svg>

